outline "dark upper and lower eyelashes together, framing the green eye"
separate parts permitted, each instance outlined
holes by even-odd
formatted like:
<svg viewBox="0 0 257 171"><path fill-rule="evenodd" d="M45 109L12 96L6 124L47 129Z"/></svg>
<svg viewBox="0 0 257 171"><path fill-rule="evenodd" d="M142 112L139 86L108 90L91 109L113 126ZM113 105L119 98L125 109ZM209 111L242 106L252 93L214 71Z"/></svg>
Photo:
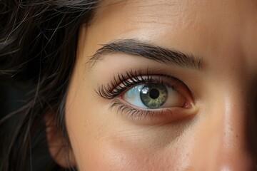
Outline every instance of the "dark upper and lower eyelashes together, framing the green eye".
<svg viewBox="0 0 257 171"><path fill-rule="evenodd" d="M168 79L169 81L172 80L173 85L171 83L164 83L163 80ZM99 94L102 98L106 99L114 99L121 95L122 93L129 90L129 88L133 88L133 86L138 86L139 84L146 84L146 83L160 83L164 84L165 86L173 88L176 90L176 86L183 85L181 81L177 78L172 76L164 75L164 74L153 74L150 70L147 70L145 74L141 70L139 71L127 71L124 74L118 73L114 80L108 83L106 86L102 85L96 90L96 93ZM175 86L176 85L176 86ZM162 115L163 113L171 113L171 110L168 109L156 109L156 110L142 110L139 108L133 108L131 105L127 105L121 100L114 99L113 103L111 103L110 108L117 107L118 113L126 113L127 115L131 116L131 118L141 119L141 118L154 118L156 115Z"/></svg>

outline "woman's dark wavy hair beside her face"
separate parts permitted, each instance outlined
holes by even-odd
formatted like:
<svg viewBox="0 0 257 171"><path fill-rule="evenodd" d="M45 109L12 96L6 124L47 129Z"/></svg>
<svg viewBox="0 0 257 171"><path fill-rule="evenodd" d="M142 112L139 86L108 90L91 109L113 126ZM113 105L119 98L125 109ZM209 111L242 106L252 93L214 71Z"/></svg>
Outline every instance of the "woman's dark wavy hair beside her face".
<svg viewBox="0 0 257 171"><path fill-rule="evenodd" d="M49 110L56 113L57 127L67 140L64 144L69 145L64 124L66 90L79 28L89 24L97 4L98 0L0 1L0 78L36 85L26 105L0 118L0 126L17 119L6 140L1 171L26 170L31 165L27 161L31 138Z"/></svg>

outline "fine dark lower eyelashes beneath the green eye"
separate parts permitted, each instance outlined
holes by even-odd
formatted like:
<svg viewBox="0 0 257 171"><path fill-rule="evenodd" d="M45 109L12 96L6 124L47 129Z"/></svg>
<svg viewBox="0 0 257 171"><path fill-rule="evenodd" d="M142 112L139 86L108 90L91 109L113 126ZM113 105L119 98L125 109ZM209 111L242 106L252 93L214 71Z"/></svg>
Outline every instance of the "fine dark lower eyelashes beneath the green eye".
<svg viewBox="0 0 257 171"><path fill-rule="evenodd" d="M133 108L131 105L126 105L120 100L114 100L111 103L110 108L116 107L117 113L126 113L128 117L132 119L145 119L145 118L155 118L157 115L160 116L163 114L163 109L161 110L141 110ZM166 109L167 110L167 109ZM171 113L171 110L168 110Z"/></svg>

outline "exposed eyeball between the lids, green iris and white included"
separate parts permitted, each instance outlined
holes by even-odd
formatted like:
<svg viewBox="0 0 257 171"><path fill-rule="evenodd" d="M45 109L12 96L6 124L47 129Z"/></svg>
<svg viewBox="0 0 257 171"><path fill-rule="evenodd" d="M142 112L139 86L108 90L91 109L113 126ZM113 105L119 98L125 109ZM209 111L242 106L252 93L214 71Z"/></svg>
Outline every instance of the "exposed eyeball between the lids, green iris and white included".
<svg viewBox="0 0 257 171"><path fill-rule="evenodd" d="M121 95L127 103L137 108L183 108L186 98L178 93L173 86L162 83L146 83L134 86Z"/></svg>

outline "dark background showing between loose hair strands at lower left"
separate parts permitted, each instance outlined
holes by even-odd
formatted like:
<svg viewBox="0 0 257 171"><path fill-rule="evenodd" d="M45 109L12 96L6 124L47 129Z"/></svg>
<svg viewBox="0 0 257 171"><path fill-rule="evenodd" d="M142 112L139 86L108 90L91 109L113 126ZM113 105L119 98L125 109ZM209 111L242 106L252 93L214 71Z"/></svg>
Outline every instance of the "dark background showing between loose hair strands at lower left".
<svg viewBox="0 0 257 171"><path fill-rule="evenodd" d="M0 81L0 119L9 113L21 108L22 105L26 103L29 97L29 92L33 88L32 83L18 83L15 81L1 80ZM11 118L4 125L0 126L0 156L3 157L3 150L5 148L4 143L11 136L11 130L14 130L17 120L16 118ZM41 125L38 130L36 130L36 136L32 139L33 145L32 154L29 158L28 170L44 170L47 165L51 165L53 161L49 155L47 143L46 143L46 133L44 120L42 120ZM8 143L7 143L8 145ZM17 156L21 157L21 156ZM3 159L0 158L0 165ZM30 162L31 161L31 162ZM32 164L30 164L32 163Z"/></svg>

